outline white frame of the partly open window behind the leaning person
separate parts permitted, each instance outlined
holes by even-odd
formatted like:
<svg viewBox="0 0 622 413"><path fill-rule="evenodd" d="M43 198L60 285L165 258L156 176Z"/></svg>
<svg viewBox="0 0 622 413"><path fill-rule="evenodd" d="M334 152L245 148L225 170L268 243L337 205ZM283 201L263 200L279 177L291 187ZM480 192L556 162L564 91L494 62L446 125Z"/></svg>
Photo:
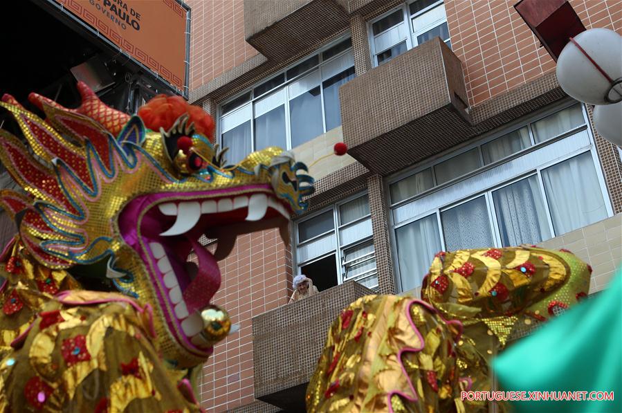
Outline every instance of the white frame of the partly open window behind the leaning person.
<svg viewBox="0 0 622 413"><path fill-rule="evenodd" d="M345 279L345 267L346 264L349 264L349 262L351 261L356 261L356 260L360 260L362 257L358 257L354 260L345 262L344 261L344 256L345 256L345 252L347 250L351 250L352 248L356 248L357 246L362 246L363 244L369 244L369 242L372 243L374 242L374 234L373 232L370 233L369 235L362 237L360 239L356 239L354 241L349 242L348 244L341 244L342 243L342 237L341 237L341 232L344 229L350 228L352 226L355 226L358 223L362 223L363 221L369 221L369 225L371 225L371 219L372 219L372 214L371 212L369 214L365 214L363 217L359 217L357 219L354 219L353 221L350 221L348 223L342 223L341 222L341 217L339 214L339 208L341 205L344 205L345 203L349 203L350 201L354 201L355 199L361 198L363 196L367 196L368 198L368 202L369 202L369 195L367 194L367 192L360 192L356 195L353 196L349 196L346 199L343 199L342 201L339 201L338 203L335 203L331 206L329 206L328 208L324 208L320 211L317 212L313 212L313 214L309 214L308 217L304 217L303 219L300 219L298 221L294 222L293 225L293 237L292 239L294 240L294 248L292 248L292 254L293 254L293 261L295 263L295 270L298 271L298 273L300 273L300 268L302 268L303 266L307 266L309 264L313 264L313 262L315 261L320 261L320 259L324 259L326 257L329 257L330 255L335 255L335 264L336 264L336 272L337 272L337 285L342 284L345 281L349 281L350 279L363 279L365 277L369 277L370 275L377 275L377 264L376 264L376 268L374 268L374 270L368 270L367 272L363 273L362 275L358 275L356 277L351 277L349 279ZM315 217L318 217L321 214L326 213L327 211L332 211L333 213L333 229L328 230L326 232L322 232L322 234L318 234L315 235L314 237L311 237L309 239L305 239L304 241L300 242L300 232L298 230L298 226L300 225L300 223L303 223L305 221L309 221L310 219L313 219ZM335 242L333 244L333 249L331 249L329 252L327 253L323 253L321 255L317 255L315 257L306 259L305 261L299 261L299 257L298 257L298 248L300 248L301 246L305 246L307 244L311 244L313 241L317 241L318 239L321 239L322 237L326 237L327 235L333 234L335 236ZM369 253L368 255L372 255L375 259L376 257L376 250L374 249L373 253ZM376 285L374 288L378 288L378 286Z"/></svg>

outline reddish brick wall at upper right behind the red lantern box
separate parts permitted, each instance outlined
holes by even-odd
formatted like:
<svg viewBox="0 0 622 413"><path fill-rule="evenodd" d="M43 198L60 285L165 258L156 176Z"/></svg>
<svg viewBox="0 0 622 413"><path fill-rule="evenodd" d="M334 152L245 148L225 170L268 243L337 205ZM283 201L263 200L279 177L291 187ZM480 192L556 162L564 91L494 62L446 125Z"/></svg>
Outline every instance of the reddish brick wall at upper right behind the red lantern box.
<svg viewBox="0 0 622 413"><path fill-rule="evenodd" d="M546 0L543 0L546 1ZM462 61L468 101L480 104L555 70L555 62L513 8L516 0L447 0L453 52ZM622 33L619 0L571 0L586 28Z"/></svg>

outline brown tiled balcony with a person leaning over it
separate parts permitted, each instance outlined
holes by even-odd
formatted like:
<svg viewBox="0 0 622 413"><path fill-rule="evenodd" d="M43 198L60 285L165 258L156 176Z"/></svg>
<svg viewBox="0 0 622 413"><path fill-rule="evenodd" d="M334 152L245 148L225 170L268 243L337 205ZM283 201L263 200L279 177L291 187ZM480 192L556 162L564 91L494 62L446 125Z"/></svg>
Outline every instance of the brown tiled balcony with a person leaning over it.
<svg viewBox="0 0 622 413"><path fill-rule="evenodd" d="M346 282L253 317L255 398L304 412L304 394L331 323L348 304L370 294L369 288Z"/></svg>

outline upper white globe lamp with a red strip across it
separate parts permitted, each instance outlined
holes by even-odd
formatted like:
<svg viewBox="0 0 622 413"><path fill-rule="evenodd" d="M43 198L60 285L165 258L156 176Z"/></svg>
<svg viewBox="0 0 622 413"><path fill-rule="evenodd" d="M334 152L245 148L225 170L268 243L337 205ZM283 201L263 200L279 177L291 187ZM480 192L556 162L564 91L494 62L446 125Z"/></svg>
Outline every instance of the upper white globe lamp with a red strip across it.
<svg viewBox="0 0 622 413"><path fill-rule="evenodd" d="M622 37L606 28L579 33L560 53L556 73L562 89L580 102L620 102Z"/></svg>

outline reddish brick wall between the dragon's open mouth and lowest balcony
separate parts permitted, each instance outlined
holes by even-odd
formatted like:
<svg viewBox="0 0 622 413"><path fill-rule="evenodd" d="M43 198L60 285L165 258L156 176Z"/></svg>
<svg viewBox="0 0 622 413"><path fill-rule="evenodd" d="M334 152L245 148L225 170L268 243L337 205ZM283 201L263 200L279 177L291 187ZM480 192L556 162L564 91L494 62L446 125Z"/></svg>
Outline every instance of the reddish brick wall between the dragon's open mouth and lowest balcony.
<svg viewBox="0 0 622 413"><path fill-rule="evenodd" d="M286 304L291 294L291 253L278 230L239 236L219 267L222 284L213 302L229 312L240 330L216 345L203 366L199 397L208 412L255 401L251 318Z"/></svg>

